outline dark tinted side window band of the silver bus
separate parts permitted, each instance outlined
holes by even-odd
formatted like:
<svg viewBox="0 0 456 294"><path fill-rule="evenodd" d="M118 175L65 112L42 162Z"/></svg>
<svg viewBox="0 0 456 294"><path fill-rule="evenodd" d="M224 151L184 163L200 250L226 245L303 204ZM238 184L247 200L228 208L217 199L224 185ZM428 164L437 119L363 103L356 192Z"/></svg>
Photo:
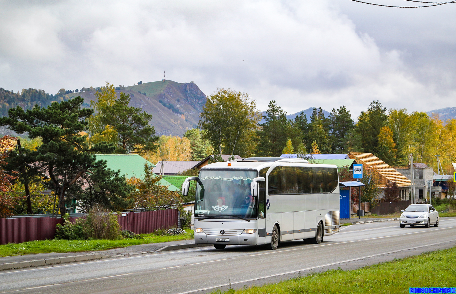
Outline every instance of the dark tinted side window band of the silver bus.
<svg viewBox="0 0 456 294"><path fill-rule="evenodd" d="M336 168L275 167L268 177L269 194L331 193L337 187Z"/></svg>

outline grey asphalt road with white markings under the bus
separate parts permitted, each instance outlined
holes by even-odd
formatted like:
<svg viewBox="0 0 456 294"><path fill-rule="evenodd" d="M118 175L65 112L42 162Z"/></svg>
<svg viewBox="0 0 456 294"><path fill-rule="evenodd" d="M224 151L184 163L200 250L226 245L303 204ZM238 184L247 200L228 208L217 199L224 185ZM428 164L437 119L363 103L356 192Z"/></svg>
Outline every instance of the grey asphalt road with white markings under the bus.
<svg viewBox="0 0 456 294"><path fill-rule="evenodd" d="M157 252L0 272L0 293L207 293L368 264L456 246L456 218L439 227L399 228L398 221L342 227L321 244L283 242L275 251L228 246Z"/></svg>

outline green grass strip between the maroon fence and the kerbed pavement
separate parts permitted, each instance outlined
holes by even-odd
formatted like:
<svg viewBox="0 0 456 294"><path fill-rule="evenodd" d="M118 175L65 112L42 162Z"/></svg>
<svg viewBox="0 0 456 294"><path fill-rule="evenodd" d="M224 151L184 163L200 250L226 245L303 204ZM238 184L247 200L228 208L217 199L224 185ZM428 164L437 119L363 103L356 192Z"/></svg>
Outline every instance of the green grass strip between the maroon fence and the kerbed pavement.
<svg viewBox="0 0 456 294"><path fill-rule="evenodd" d="M142 239L121 240L45 240L0 245L0 257L48 252L79 252L122 248L130 245L193 239L193 230L175 236L141 234Z"/></svg>

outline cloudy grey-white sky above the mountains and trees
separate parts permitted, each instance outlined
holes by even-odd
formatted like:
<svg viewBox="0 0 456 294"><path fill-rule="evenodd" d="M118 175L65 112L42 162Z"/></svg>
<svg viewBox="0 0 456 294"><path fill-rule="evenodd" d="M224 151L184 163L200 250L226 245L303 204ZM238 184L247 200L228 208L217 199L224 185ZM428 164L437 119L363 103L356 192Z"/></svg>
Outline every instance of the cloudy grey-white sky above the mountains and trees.
<svg viewBox="0 0 456 294"><path fill-rule="evenodd" d="M372 0L413 5L403 0ZM0 87L193 80L289 113L456 106L456 4L350 0L1 1Z"/></svg>

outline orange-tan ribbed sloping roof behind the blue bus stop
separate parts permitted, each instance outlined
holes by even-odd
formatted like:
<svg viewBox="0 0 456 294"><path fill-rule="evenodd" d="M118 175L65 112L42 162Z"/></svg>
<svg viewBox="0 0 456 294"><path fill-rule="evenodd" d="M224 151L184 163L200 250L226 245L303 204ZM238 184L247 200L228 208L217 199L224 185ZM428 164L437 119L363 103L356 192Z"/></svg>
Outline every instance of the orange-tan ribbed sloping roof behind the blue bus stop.
<svg viewBox="0 0 456 294"><path fill-rule="evenodd" d="M391 183L396 182L399 187L411 185L408 178L404 177L404 175L372 153L350 152L348 153L348 157L350 157L350 159L355 159L357 163L363 163L369 168L373 168L381 177L386 178Z"/></svg>

